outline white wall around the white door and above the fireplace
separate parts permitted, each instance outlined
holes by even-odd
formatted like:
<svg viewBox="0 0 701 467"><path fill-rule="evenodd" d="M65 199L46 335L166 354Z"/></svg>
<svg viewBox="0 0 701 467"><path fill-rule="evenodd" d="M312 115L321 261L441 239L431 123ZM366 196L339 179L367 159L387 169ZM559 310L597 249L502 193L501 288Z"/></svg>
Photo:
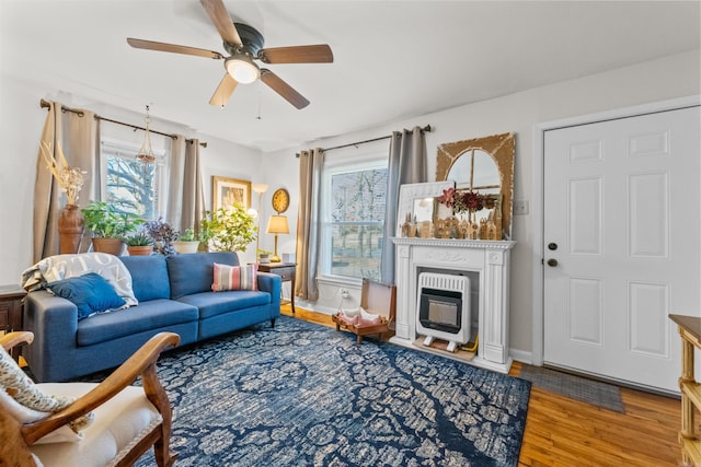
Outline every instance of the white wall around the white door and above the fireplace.
<svg viewBox="0 0 701 467"><path fill-rule="evenodd" d="M585 77L548 86L484 101L457 108L427 114L418 118L400 120L353 135L314 141L309 148L361 141L389 135L393 130L432 125L434 131L426 135L429 174L435 174L438 144L513 131L516 133L516 166L514 199L527 200L530 212L515 215L513 238L518 243L512 256L512 314L510 346L515 357L528 361L532 351L532 271L533 261L540 260L540 245L533 245L533 130L535 126L550 120L588 115L621 107L701 94L699 50L666 57L659 60L621 68L606 73ZM386 142L387 143L387 142ZM363 148L363 147L360 147ZM294 172L297 160L292 151L266 154L266 163L285 166L286 174ZM290 192L292 192L290 190ZM298 190L295 189L295 195ZM297 196L292 196L290 212L297 211ZM338 307L338 285L320 287L319 310ZM350 290L354 292L354 289ZM357 290L355 290L357 293ZM357 300L357 294L355 294ZM344 304L344 306L346 306Z"/></svg>

